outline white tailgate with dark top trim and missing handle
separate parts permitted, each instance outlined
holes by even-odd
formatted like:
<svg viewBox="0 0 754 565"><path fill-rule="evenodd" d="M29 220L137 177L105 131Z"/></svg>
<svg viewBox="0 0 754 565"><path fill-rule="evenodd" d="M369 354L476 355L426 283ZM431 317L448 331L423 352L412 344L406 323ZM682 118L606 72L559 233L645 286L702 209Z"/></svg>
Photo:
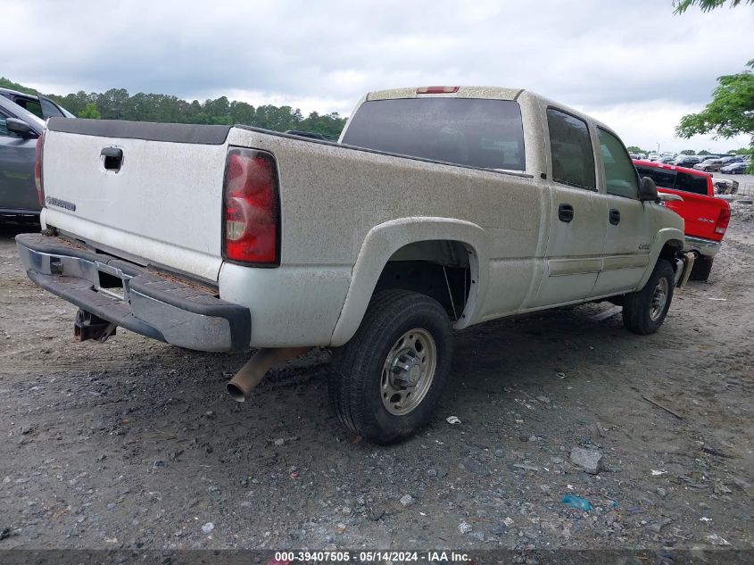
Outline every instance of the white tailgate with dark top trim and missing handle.
<svg viewBox="0 0 754 565"><path fill-rule="evenodd" d="M132 261L217 280L229 129L53 118L43 221Z"/></svg>

